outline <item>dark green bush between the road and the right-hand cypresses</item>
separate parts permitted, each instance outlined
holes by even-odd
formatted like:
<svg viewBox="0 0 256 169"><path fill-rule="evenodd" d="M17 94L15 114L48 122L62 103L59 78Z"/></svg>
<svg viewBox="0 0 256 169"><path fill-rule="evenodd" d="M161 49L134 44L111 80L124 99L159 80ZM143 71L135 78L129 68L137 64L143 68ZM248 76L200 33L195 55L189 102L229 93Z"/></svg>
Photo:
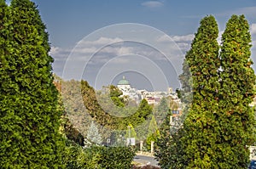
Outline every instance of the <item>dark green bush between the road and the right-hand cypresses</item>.
<svg viewBox="0 0 256 169"><path fill-rule="evenodd" d="M186 109L183 114L170 126L172 113L166 115L165 121L160 126L160 136L155 141L154 155L159 161L161 168L185 168L185 152L182 139L184 137L183 121L187 115Z"/></svg>

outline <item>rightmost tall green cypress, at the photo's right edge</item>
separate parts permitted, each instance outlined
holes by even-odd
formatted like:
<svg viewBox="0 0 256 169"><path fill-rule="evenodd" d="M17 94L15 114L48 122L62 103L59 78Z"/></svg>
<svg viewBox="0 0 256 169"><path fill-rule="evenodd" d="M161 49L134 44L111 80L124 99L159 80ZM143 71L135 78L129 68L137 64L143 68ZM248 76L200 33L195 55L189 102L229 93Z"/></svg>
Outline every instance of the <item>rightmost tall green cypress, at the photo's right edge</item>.
<svg viewBox="0 0 256 169"><path fill-rule="evenodd" d="M248 145L253 144L253 101L255 76L250 59L251 36L244 15L232 15L222 36L221 47L221 145L222 168L246 168Z"/></svg>

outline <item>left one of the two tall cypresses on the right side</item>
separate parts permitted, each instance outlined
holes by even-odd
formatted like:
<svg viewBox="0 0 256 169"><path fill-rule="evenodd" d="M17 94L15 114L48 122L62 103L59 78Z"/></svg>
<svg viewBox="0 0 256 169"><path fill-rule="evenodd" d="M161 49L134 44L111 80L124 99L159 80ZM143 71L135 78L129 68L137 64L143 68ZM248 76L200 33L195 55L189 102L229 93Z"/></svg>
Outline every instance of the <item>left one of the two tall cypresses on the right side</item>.
<svg viewBox="0 0 256 169"><path fill-rule="evenodd" d="M193 99L183 130L188 168L214 168L218 130L218 25L212 15L201 20L186 55L193 78Z"/></svg>

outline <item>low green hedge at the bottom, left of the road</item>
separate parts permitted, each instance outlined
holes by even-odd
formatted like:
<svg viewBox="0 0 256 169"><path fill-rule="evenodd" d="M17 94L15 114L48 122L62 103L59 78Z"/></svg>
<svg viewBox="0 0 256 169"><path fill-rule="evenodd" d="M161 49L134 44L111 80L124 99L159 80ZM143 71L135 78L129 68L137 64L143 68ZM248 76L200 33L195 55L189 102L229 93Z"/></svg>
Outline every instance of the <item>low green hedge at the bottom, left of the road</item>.
<svg viewBox="0 0 256 169"><path fill-rule="evenodd" d="M77 144L67 144L65 165L67 169L130 169L134 155L130 147L91 146L83 149Z"/></svg>

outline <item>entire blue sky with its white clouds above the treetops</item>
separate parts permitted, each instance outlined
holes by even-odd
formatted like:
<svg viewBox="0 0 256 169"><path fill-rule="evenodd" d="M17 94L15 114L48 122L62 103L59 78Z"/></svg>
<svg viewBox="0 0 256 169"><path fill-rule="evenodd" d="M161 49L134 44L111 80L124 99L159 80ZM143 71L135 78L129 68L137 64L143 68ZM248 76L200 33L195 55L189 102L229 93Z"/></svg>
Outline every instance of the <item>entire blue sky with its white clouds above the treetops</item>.
<svg viewBox="0 0 256 169"><path fill-rule="evenodd" d="M164 90L166 86L180 87L177 75L181 73L183 56L189 49L200 20L207 14L215 16L220 35L231 14L245 14L251 25L253 45L256 41L256 0L33 0L33 2L38 5L42 19L47 25L52 45L51 55L55 58L53 65L55 73L67 79L84 78L94 87L108 85L107 83L115 84L124 75L130 78L134 87L138 88ZM116 25L124 23L135 25ZM137 31L137 36L128 30ZM123 34L120 33L122 31ZM168 36L171 39L166 38ZM121 43L123 40L132 41L133 44ZM138 44L136 42L140 45L135 45ZM105 48L109 44L112 45L111 48ZM172 50L165 51L166 48ZM256 54L254 47L252 51ZM97 55L93 55L96 53ZM170 54L165 59L160 56L162 53L164 55L172 53L172 56ZM150 54L158 55L157 59ZM149 65L145 64L148 60L151 63ZM253 60L256 62L256 59ZM171 65L166 62L170 62ZM124 68L126 65L131 69ZM79 73L75 71L78 67L81 67ZM116 69L111 70L113 67ZM119 67L123 69L118 69ZM141 67L143 70L140 69ZM107 74L108 70L109 74ZM115 72L110 73L111 71ZM166 82L157 79L155 72L162 72L160 76L163 77L162 79L166 78ZM141 75L141 78L135 77L134 73ZM99 82L98 79L102 81ZM156 82L166 84L157 85Z"/></svg>

